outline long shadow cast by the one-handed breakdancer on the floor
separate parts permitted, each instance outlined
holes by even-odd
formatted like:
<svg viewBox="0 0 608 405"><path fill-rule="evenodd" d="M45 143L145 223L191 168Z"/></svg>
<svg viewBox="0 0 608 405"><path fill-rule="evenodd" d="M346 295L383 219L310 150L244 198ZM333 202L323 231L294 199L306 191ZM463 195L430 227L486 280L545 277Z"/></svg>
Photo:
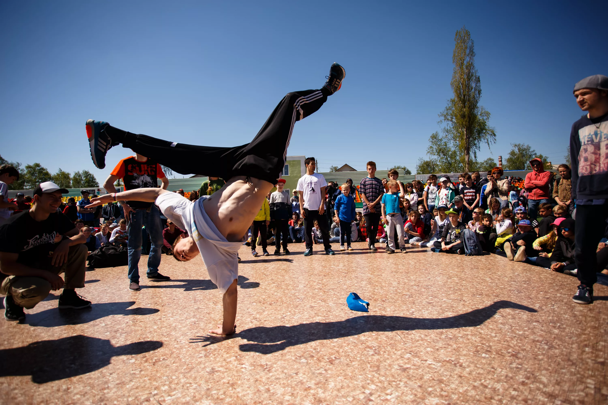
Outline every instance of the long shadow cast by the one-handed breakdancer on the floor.
<svg viewBox="0 0 608 405"><path fill-rule="evenodd" d="M263 355L280 352L287 347L306 344L317 340L345 338L365 332L393 332L399 330L431 330L475 327L496 315L500 309L513 308L527 312L537 312L525 305L511 301L497 301L485 308L472 310L447 318L407 318L405 316L362 315L338 322L311 322L293 326L258 326L236 333L230 338L241 338L250 342L241 344L242 352L257 352ZM226 338L221 336L197 336L192 343L215 344Z"/></svg>

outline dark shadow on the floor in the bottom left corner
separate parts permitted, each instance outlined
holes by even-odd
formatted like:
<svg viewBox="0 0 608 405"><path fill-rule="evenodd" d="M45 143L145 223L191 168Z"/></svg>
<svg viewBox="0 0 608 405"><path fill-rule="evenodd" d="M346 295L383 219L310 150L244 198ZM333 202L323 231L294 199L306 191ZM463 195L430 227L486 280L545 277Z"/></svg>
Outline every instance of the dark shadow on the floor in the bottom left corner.
<svg viewBox="0 0 608 405"><path fill-rule="evenodd" d="M112 346L107 339L77 335L43 340L27 346L0 350L0 377L31 375L36 384L49 383L102 369L112 357L139 355L162 347L159 341Z"/></svg>

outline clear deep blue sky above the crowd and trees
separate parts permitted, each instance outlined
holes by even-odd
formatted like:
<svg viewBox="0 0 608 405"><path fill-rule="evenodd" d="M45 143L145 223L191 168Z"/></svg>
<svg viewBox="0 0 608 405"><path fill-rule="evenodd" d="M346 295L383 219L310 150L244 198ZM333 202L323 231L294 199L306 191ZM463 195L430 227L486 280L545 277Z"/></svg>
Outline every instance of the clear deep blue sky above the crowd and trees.
<svg viewBox="0 0 608 405"><path fill-rule="evenodd" d="M1 2L0 154L102 183L128 149L94 168L85 122L182 143L250 141L292 90L319 88L334 61L342 89L296 124L289 155L320 171L406 165L426 156L451 97L454 33L475 41L481 104L497 143L562 163L576 81L608 66L605 2ZM466 3L463 5L461 3ZM605 25L605 24L604 24ZM181 177L181 176L180 176Z"/></svg>

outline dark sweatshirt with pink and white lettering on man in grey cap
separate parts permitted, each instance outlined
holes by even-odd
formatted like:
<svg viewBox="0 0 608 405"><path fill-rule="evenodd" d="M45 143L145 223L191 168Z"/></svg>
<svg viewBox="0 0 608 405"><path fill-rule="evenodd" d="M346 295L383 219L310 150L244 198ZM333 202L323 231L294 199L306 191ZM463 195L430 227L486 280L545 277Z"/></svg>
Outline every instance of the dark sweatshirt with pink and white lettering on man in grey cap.
<svg viewBox="0 0 608 405"><path fill-rule="evenodd" d="M570 131L570 160L572 160L572 199L608 199L608 156L604 149L608 141L608 114L597 118L583 115L572 124Z"/></svg>

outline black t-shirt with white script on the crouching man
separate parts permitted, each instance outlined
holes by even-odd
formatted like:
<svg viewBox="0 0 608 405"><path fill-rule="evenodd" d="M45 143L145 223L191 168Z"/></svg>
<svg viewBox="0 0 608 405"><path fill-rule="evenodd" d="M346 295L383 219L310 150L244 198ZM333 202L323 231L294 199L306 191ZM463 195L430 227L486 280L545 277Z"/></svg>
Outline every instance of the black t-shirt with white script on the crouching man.
<svg viewBox="0 0 608 405"><path fill-rule="evenodd" d="M30 216L29 209L16 214L0 226L0 251L18 253L24 265L50 264L50 253L61 236L75 228L63 213L56 212L43 221Z"/></svg>

